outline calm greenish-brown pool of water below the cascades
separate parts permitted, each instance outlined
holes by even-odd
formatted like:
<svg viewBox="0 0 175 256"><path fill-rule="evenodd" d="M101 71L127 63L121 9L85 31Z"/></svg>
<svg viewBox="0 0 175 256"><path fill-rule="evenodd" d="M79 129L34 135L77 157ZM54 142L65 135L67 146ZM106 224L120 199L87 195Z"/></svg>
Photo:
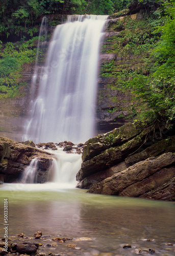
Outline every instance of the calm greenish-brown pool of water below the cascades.
<svg viewBox="0 0 175 256"><path fill-rule="evenodd" d="M9 237L33 237L38 230L47 239L71 237L79 250L63 250L65 255L136 255L137 248L145 255L149 249L175 255L174 202L94 195L55 183L3 184L0 191L1 212L8 198ZM3 215L0 220L3 227ZM90 240L77 241L82 237ZM123 249L126 244L132 248Z"/></svg>

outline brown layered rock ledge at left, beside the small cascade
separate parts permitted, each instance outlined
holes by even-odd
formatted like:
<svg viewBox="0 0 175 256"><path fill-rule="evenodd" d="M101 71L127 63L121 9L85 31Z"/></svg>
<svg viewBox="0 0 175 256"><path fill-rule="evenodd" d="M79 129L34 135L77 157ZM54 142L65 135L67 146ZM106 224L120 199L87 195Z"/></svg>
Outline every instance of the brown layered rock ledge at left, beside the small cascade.
<svg viewBox="0 0 175 256"><path fill-rule="evenodd" d="M46 182L53 157L36 147L0 137L0 182L19 181L24 169L34 158L38 159L37 183Z"/></svg>

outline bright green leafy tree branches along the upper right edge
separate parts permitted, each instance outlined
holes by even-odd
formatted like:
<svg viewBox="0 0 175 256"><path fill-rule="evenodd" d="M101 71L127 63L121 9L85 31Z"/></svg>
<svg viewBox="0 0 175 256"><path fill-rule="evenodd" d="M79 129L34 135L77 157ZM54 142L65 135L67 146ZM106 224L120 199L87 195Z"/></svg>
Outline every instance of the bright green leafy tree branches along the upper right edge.
<svg viewBox="0 0 175 256"><path fill-rule="evenodd" d="M133 79L131 84L134 93L147 102L149 119L163 119L168 123L175 120L175 1L166 1L163 6L162 26L154 31L161 36L152 52L157 70L147 78Z"/></svg>

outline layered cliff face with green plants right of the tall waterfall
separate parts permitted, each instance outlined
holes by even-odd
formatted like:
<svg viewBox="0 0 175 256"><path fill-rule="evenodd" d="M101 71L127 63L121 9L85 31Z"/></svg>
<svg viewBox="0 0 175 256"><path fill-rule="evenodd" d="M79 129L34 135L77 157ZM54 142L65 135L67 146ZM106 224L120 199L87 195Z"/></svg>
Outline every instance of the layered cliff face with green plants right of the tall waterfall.
<svg viewBox="0 0 175 256"><path fill-rule="evenodd" d="M154 62L149 51L156 38L144 10L129 13L123 10L111 15L104 34L96 112L99 132L106 133L139 119L143 111L129 82L139 74L146 76L151 72Z"/></svg>

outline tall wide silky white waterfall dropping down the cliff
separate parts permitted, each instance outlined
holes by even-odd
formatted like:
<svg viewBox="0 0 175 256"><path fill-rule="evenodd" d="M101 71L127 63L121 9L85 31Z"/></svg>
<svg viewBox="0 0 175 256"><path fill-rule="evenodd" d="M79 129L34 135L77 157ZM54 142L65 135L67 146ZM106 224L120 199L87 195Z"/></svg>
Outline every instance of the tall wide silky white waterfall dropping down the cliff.
<svg viewBox="0 0 175 256"><path fill-rule="evenodd" d="M107 17L69 15L56 27L24 140L79 143L94 136L98 54Z"/></svg>

